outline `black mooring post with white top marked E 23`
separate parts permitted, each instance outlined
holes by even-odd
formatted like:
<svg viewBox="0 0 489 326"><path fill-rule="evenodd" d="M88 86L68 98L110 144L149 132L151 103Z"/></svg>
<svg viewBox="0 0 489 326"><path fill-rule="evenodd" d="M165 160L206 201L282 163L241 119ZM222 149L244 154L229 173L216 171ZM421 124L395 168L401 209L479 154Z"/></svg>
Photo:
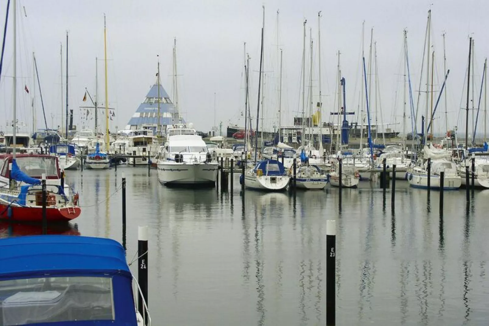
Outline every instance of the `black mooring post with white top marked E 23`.
<svg viewBox="0 0 489 326"><path fill-rule="evenodd" d="M336 221L326 221L326 325L335 325Z"/></svg>

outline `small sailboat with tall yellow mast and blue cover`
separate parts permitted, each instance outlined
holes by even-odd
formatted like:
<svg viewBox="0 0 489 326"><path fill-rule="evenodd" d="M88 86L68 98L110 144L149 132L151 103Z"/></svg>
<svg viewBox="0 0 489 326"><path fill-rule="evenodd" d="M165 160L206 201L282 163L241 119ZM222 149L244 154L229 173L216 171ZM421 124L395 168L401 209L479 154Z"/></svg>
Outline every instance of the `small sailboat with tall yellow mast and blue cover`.
<svg viewBox="0 0 489 326"><path fill-rule="evenodd" d="M85 160L85 164L88 169L109 169L111 166L111 160L108 156L109 152L109 94L108 94L108 88L107 88L107 24L105 22L105 15L104 15L104 64L105 64L105 124L106 124L106 131L105 131L105 146L106 146L106 152L100 152L100 141L99 141L99 135L97 133L97 141L95 145L95 152L87 155L87 159ZM96 87L98 88L98 87ZM95 105L95 111L97 110L97 105L96 102L94 103ZM97 127L97 126L96 126Z"/></svg>

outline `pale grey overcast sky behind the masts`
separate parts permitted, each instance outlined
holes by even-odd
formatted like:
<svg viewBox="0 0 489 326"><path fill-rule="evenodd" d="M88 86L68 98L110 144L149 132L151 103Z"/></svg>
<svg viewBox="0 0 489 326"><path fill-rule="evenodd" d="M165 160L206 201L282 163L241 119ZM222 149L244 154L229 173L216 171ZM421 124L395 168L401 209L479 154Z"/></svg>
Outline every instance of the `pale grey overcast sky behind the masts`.
<svg viewBox="0 0 489 326"><path fill-rule="evenodd" d="M78 115L85 87L94 93L95 57L104 55L104 13L107 15L109 103L116 109L111 129L125 127L155 82L156 55L161 62L163 87L172 93L172 46L177 38L178 95L181 112L199 130L214 125L214 93L217 99L217 123L243 124L244 66L243 43L251 57L251 110L256 113L262 5L265 5L265 123L277 124L278 58L283 49L282 124L290 125L300 105L303 21L307 19L307 75L309 79L309 38L313 38L313 102L318 88L318 12L321 18L321 79L323 120L330 119L336 90L337 51L341 52L342 76L347 81L347 109L356 111L360 94L359 63L361 31L365 21L365 56L368 61L370 32L374 27L377 42L378 83L381 102L377 105L378 123L401 123L402 119L402 34L408 30L411 80L415 104L419 88L422 50L427 11L432 9L431 39L435 51L434 89L443 81L443 32L446 33L446 62L450 69L447 85L449 126L462 128L457 122L460 106L465 107L464 80L467 69L468 37L475 40L476 106L484 59L488 54L486 19L489 3L484 0L351 0L351 1L89 1L89 0L18 0L18 118L31 129L30 95L24 91L33 86L32 52L36 53L48 127L61 124L61 58L60 43L66 55L66 31L69 31L69 107L74 109L75 124L81 128ZM3 27L6 1L0 7ZM25 7L25 13L24 8ZM279 13L277 46L277 10ZM26 14L26 15L25 15ZM12 110L12 32L9 19L0 82L0 102L11 120ZM485 34L486 33L486 34ZM63 58L63 73L66 62ZM104 63L99 61L99 97L104 102ZM372 79L374 85L375 76ZM63 83L65 83L63 77ZM307 81L307 84L309 82ZM423 78L422 89L425 87ZM64 90L66 91L66 89ZM306 89L306 92L308 90ZM374 90L372 90L374 92ZM36 106L40 99L36 94ZM374 97L374 94L371 94ZM66 95L64 95L66 96ZM398 101L396 101L396 96ZM435 101L438 93L435 93ZM484 97L483 97L484 98ZM420 102L424 114L424 99ZM372 104L374 105L374 104ZM380 111L380 105L381 110ZM483 107L483 105L482 105ZM409 109L408 109L409 110ZM420 109L421 110L421 109ZM445 131L445 105L441 103L440 119L435 130ZM375 111L375 108L372 108ZM438 114L437 114L438 115ZM482 119L483 113L481 113ZM382 121L380 118L382 117ZM465 113L462 116L465 119ZM462 118L461 117L461 118ZM240 120L241 119L241 120ZM356 118L350 120L356 120ZM375 116L373 117L375 119ZM93 121L91 121L93 123ZM44 127L40 110L39 128ZM407 123L410 126L410 122ZM465 120L464 120L465 125ZM480 124L483 128L483 124ZM402 130L402 125L391 126ZM410 128L410 127L409 127ZM5 130L5 123L1 124ZM479 129L482 130L482 129ZM408 130L409 131L409 130Z"/></svg>

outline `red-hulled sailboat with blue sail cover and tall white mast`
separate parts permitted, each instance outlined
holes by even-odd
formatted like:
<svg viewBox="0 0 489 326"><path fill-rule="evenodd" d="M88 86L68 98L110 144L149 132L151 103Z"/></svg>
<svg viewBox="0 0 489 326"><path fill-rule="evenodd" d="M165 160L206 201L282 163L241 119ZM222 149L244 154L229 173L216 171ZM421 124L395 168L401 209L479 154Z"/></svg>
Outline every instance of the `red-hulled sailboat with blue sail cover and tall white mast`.
<svg viewBox="0 0 489 326"><path fill-rule="evenodd" d="M14 17L14 103L12 153L0 155L0 218L11 221L67 221L78 217L78 194L69 196L64 173L57 156L17 154L17 1L13 3ZM46 183L45 211L41 178ZM43 214L43 211L45 212Z"/></svg>

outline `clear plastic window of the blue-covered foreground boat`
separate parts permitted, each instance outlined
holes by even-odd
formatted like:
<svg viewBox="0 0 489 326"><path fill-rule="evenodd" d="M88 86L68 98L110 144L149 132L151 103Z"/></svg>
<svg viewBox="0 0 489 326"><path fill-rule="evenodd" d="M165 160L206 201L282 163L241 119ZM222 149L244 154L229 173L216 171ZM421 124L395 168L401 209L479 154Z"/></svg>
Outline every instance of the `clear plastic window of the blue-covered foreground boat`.
<svg viewBox="0 0 489 326"><path fill-rule="evenodd" d="M115 319L110 277L0 281L0 306L4 326Z"/></svg>

